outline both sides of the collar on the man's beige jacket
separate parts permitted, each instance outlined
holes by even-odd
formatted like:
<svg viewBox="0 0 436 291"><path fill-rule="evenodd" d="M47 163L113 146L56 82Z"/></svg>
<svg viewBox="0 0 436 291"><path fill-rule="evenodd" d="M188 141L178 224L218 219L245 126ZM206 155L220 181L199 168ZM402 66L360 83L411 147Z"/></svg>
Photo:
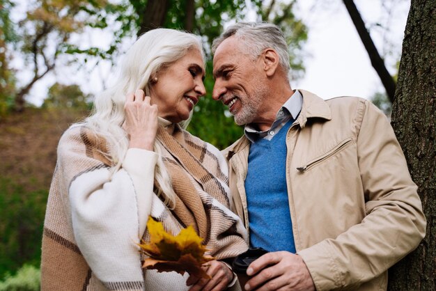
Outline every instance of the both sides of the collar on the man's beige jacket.
<svg viewBox="0 0 436 291"><path fill-rule="evenodd" d="M297 120L295 120L295 123L298 123L300 128L304 128L306 126L309 118L322 118L325 120L332 119L332 111L330 111L330 107L325 100L309 91L300 89L298 89L298 91L302 93L303 96L302 111L299 113ZM238 139L238 141L235 141L235 143L224 150L224 156L230 160L233 155L241 150L244 150L244 148L249 145L250 141L244 135Z"/></svg>

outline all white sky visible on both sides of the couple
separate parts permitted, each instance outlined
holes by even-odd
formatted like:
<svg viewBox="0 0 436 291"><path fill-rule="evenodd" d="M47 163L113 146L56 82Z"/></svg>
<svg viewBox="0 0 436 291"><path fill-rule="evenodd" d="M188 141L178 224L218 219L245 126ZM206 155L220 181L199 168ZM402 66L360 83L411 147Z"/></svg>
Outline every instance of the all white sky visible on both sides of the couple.
<svg viewBox="0 0 436 291"><path fill-rule="evenodd" d="M341 95L355 95L371 99L377 92L384 92L381 81L371 66L354 24L341 0L300 0L295 13L309 27L309 36L304 45L304 66L302 79L292 80L293 88L302 88L325 99ZM371 37L391 74L396 73L395 65L400 58L407 13L410 8L406 0L355 0L366 26L371 26ZM391 17L386 17L390 10ZM248 20L250 15L247 15ZM380 23L389 30L375 26ZM78 36L83 43L109 45L102 35ZM127 40L127 42L132 40ZM105 43L107 42L107 43ZM127 44L128 45L128 44ZM386 54L391 52L391 54ZM15 65L22 66L20 60ZM91 64L88 64L88 68ZM40 105L47 96L47 89L57 80L63 84L79 84L85 93L102 91L102 80L114 77L114 70L108 64L100 63L96 70L80 72L75 68L57 68L53 73L38 81L27 100ZM25 80L30 74L21 74Z"/></svg>

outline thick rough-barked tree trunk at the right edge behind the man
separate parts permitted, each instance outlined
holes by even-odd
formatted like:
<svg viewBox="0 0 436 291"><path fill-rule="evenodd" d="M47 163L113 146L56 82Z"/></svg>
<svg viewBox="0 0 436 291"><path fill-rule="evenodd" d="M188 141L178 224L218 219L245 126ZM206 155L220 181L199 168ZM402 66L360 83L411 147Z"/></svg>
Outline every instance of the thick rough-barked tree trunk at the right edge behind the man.
<svg viewBox="0 0 436 291"><path fill-rule="evenodd" d="M436 290L436 1L412 0L392 126L427 218L419 247L389 270L389 290Z"/></svg>

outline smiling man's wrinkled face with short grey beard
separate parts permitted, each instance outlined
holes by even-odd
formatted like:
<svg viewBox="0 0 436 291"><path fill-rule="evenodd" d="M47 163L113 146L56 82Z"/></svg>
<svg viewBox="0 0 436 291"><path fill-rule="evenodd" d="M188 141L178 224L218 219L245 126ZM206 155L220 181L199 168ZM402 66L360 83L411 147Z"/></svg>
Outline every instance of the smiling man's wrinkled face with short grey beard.
<svg viewBox="0 0 436 291"><path fill-rule="evenodd" d="M231 36L217 47L213 58L214 100L221 100L235 117L235 123L253 123L267 96L263 86L263 62L249 56L241 40Z"/></svg>

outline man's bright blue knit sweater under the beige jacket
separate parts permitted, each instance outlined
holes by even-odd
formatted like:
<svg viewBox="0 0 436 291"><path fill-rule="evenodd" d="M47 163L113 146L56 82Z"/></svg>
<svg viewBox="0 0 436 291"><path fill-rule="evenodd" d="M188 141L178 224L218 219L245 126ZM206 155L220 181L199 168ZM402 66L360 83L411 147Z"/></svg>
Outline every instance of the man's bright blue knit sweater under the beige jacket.
<svg viewBox="0 0 436 291"><path fill-rule="evenodd" d="M272 138L251 144L245 179L250 244L267 251L295 253L286 186L286 133L293 120Z"/></svg>

